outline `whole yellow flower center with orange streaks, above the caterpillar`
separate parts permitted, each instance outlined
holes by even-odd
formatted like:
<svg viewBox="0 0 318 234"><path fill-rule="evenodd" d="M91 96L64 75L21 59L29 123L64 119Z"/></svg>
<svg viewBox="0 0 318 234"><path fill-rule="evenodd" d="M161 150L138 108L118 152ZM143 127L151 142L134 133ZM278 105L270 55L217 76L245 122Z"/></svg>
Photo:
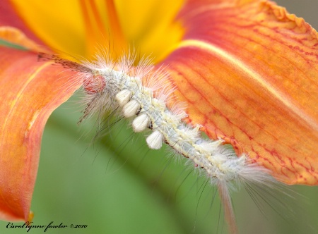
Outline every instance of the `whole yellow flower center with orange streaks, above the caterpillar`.
<svg viewBox="0 0 318 234"><path fill-rule="evenodd" d="M13 5L25 23L57 52L92 57L98 47L114 57L135 47L160 61L182 38L175 20L182 0L19 1Z"/></svg>

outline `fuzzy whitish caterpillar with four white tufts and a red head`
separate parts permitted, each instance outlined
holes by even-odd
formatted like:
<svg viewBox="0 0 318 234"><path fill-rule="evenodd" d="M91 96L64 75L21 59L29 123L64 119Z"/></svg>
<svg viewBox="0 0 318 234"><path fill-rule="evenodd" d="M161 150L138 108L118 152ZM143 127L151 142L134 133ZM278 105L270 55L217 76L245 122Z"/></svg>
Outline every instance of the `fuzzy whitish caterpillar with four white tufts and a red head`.
<svg viewBox="0 0 318 234"><path fill-rule="evenodd" d="M107 53L103 53L106 54ZM231 233L237 233L235 214L230 193L245 184L276 187L280 185L269 171L254 164L248 154L237 156L222 139L206 140L201 136L200 125L187 125L185 104L173 97L175 87L164 67L155 68L149 58L142 58L133 66L135 55L122 56L118 61L98 54L93 62L76 63L58 56L40 54L41 60L55 63L74 71L83 84L86 109L83 117L106 110L117 111L131 119L134 132L147 131L146 143L150 149L168 144L175 154L187 158L218 187L225 219Z"/></svg>

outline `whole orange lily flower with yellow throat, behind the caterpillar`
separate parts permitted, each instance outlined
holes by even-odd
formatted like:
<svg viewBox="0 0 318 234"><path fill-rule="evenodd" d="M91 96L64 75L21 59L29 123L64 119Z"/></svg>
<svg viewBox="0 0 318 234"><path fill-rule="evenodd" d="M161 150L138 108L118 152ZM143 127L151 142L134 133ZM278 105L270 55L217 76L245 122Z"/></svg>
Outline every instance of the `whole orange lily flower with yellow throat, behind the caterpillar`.
<svg viewBox="0 0 318 234"><path fill-rule="evenodd" d="M175 95L188 104L186 121L208 137L223 138L284 183L317 185L318 39L310 25L269 1L130 4L63 2L57 22L43 20L53 5L4 1L0 38L30 51L0 48L1 219L30 218L45 123L81 85L66 73L57 79L64 69L37 62L36 52L91 58L106 36L114 51L134 42L141 54L169 64ZM158 22L141 24L150 12Z"/></svg>

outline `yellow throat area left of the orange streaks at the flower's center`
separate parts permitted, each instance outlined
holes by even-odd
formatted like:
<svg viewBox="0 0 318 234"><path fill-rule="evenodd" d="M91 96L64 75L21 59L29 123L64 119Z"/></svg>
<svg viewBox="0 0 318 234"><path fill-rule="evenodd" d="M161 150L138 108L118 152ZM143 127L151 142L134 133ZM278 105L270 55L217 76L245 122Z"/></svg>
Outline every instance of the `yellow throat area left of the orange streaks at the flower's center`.
<svg viewBox="0 0 318 234"><path fill-rule="evenodd" d="M10 1L11 8L45 44L57 51L85 56L84 22L79 1Z"/></svg>

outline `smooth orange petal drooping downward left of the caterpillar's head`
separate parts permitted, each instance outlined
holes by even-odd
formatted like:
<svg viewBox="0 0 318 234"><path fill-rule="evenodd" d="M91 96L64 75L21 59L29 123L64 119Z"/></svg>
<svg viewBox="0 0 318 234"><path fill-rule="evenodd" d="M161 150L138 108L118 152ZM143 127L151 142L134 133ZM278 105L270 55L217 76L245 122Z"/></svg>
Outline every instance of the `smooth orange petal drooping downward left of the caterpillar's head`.
<svg viewBox="0 0 318 234"><path fill-rule="evenodd" d="M80 85L61 71L0 47L0 219L28 220L45 123Z"/></svg>

